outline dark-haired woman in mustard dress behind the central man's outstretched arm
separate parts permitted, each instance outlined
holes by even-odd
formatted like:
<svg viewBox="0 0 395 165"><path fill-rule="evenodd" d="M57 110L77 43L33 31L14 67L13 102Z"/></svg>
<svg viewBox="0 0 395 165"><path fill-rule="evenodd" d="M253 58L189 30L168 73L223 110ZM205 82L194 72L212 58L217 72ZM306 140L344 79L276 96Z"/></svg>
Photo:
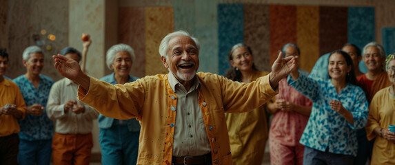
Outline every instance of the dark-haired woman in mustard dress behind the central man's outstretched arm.
<svg viewBox="0 0 395 165"><path fill-rule="evenodd" d="M254 66L250 47L236 44L228 54L232 67L225 76L241 83L250 83L269 74ZM233 164L261 164L267 140L267 118L265 106L246 113L225 113L230 137Z"/></svg>

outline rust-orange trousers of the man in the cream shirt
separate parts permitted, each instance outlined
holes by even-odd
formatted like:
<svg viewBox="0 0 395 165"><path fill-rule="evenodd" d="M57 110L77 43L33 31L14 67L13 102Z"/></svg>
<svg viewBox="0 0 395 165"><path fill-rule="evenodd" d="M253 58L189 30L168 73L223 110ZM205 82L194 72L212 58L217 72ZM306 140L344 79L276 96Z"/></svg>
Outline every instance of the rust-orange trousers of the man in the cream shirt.
<svg viewBox="0 0 395 165"><path fill-rule="evenodd" d="M92 133L85 135L55 133L52 138L54 165L89 164L92 147Z"/></svg>

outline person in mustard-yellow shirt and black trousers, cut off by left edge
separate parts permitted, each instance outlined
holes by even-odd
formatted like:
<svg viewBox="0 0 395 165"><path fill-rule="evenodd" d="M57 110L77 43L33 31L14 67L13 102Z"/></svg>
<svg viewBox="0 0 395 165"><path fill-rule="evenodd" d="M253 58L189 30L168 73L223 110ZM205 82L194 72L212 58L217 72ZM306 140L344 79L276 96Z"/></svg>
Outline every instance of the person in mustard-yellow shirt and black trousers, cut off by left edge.
<svg viewBox="0 0 395 165"><path fill-rule="evenodd" d="M25 118L26 104L17 84L4 78L8 54L0 50L0 162L17 164L21 130L17 120Z"/></svg>

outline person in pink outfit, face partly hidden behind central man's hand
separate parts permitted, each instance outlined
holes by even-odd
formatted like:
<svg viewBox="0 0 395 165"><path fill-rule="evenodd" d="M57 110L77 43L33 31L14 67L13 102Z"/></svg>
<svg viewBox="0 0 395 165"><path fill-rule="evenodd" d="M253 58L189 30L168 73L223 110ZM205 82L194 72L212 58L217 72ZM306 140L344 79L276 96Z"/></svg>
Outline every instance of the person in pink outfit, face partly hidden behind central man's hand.
<svg viewBox="0 0 395 165"><path fill-rule="evenodd" d="M299 64L300 50L294 43L287 43L281 50L284 57L294 56ZM295 72L308 72L297 69ZM267 104L274 114L269 132L270 164L303 164L305 146L299 143L312 110L312 101L287 84L287 78L278 83L276 102Z"/></svg>

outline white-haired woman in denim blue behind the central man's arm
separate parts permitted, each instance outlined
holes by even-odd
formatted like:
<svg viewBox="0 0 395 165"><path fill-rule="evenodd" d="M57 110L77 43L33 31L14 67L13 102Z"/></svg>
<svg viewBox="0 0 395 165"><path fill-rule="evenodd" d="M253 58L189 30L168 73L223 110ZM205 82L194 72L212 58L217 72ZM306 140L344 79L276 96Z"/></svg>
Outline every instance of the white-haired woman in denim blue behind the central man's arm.
<svg viewBox="0 0 395 165"><path fill-rule="evenodd" d="M106 54L106 64L113 72L101 80L112 85L137 80L129 74L134 58L134 51L129 45L120 43L110 47ZM100 114L99 128L102 164L136 164L140 124L135 118L118 120Z"/></svg>

